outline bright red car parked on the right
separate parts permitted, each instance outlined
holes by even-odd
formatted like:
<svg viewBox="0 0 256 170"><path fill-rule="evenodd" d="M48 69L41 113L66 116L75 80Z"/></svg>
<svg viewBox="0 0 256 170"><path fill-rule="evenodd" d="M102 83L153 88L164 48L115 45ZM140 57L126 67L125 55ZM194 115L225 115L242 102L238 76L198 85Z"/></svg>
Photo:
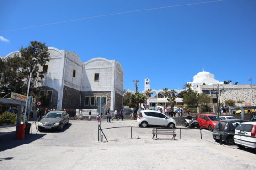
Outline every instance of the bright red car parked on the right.
<svg viewBox="0 0 256 170"><path fill-rule="evenodd" d="M212 132L215 124L218 123L218 116L215 114L200 114L197 120L201 128L207 128Z"/></svg>

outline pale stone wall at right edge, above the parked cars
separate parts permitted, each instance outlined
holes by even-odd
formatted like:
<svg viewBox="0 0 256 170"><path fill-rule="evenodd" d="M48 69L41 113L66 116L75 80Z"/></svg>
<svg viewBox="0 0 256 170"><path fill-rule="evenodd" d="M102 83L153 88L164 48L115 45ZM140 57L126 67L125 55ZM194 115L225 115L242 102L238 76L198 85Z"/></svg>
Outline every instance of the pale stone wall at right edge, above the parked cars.
<svg viewBox="0 0 256 170"><path fill-rule="evenodd" d="M256 89L242 89L242 90L226 90L221 92L220 102L224 103L226 100L244 100L256 106ZM240 106L240 104L238 105Z"/></svg>

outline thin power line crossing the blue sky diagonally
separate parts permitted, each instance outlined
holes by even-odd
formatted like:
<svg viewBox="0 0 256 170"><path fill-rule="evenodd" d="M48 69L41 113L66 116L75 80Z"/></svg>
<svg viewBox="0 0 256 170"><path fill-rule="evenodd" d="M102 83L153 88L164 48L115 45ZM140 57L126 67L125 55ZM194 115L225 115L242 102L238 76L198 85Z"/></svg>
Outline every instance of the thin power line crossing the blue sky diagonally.
<svg viewBox="0 0 256 170"><path fill-rule="evenodd" d="M126 11L126 12L113 13L113 14L97 15L97 16L90 16L90 17L78 18L78 19L73 19L73 20L53 22L53 23L42 24L42 25L37 25L37 26L28 26L28 27L17 28L17 29L13 29L13 30L0 31L0 32L24 30L24 29L35 28L35 27L40 27L40 26L49 26L49 25L54 25L54 24L61 24L61 23L64 23L64 22L86 20L86 19L99 18L99 17L103 17L103 16L110 16L110 15L128 14L128 13L132 13L132 12L139 12L139 11L145 11L145 10L158 10L158 9L163 9L163 8L171 8L171 7L178 7L178 6L188 6L188 5L197 5L197 4L206 4L206 3L213 3L213 2L220 2L220 1L226 1L226 0L213 0L213 1L207 1L207 2L198 2L198 3L193 3L193 4L181 4L181 5L171 5L171 6L164 6L164 7L157 7L157 8L148 8L148 9L144 9L144 10L132 10L132 11Z"/></svg>

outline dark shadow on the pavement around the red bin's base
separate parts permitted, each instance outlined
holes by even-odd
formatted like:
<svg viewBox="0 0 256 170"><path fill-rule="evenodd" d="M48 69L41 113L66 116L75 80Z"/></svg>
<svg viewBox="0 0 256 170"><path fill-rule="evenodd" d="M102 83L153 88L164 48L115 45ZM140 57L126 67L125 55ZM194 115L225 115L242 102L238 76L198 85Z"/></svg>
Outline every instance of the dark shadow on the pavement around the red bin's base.
<svg viewBox="0 0 256 170"><path fill-rule="evenodd" d="M28 134L25 140L16 140L16 134L6 134L0 138L0 152L8 149L21 146L23 144L29 144L37 139L42 138L46 134ZM3 158L0 158L3 159Z"/></svg>

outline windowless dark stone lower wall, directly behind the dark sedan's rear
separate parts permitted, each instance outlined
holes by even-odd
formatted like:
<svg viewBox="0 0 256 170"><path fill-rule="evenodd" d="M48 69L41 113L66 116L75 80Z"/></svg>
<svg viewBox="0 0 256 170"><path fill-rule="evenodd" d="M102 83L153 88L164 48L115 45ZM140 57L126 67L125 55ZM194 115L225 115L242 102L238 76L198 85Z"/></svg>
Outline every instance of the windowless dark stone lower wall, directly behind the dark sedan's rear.
<svg viewBox="0 0 256 170"><path fill-rule="evenodd" d="M80 107L80 94L79 90L64 86L63 98L62 98L62 109L64 108L79 108Z"/></svg>

